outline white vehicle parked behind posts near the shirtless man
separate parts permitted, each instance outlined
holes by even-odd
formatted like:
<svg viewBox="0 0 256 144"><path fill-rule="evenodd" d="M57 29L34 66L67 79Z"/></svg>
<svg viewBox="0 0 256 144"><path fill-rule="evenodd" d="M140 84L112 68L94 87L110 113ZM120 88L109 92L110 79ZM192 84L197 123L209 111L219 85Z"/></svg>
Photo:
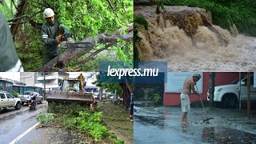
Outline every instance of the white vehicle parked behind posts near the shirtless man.
<svg viewBox="0 0 256 144"><path fill-rule="evenodd" d="M247 77L239 78L229 85L215 86L214 87L214 102L219 102L222 108L232 108L239 102L239 87L241 83L241 94L240 99L242 102L247 100ZM250 99L251 101L256 101L256 88L254 87L254 76L250 76ZM207 100L210 101L209 91L207 93Z"/></svg>

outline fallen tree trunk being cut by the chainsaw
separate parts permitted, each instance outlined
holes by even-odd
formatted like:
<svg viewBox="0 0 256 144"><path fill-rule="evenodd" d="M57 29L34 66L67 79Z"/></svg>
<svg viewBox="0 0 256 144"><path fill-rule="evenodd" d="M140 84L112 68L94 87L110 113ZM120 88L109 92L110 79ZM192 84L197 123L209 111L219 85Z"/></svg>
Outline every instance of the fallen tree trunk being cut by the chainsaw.
<svg viewBox="0 0 256 144"><path fill-rule="evenodd" d="M122 29L120 29L122 30ZM127 34L119 34L120 30L116 30L114 34L106 35L106 34L98 34L98 41L96 42L94 38L85 38L81 42L92 42L94 46L97 43L115 43L118 42L118 39L122 39L126 42L132 42L133 41L133 24L130 24L127 28ZM92 49L76 49L76 48L67 48L67 50L52 59L50 62L48 62L45 66L43 66L41 69L35 70L35 71L66 71L66 66L68 62L70 62L73 59L80 58L82 55L88 53Z"/></svg>

